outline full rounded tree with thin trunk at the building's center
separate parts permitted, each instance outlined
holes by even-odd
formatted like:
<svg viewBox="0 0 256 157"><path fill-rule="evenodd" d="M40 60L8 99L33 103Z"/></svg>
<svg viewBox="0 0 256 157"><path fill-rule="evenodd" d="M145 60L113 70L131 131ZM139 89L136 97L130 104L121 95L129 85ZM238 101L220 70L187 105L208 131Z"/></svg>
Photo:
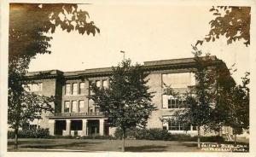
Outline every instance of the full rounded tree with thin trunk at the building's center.
<svg viewBox="0 0 256 157"><path fill-rule="evenodd" d="M113 67L109 88L92 84L94 94L90 99L100 106L112 126L123 131L122 151L125 151L126 129L147 125L148 117L155 109L151 103L153 92L148 92L147 76L142 66L131 66L131 60L125 60Z"/></svg>

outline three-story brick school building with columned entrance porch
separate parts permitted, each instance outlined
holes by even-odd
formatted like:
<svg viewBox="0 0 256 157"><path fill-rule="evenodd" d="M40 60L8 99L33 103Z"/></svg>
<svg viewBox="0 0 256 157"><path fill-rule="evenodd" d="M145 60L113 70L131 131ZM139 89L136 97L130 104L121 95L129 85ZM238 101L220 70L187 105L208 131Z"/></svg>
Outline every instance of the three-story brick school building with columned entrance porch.
<svg viewBox="0 0 256 157"><path fill-rule="evenodd" d="M224 64L216 56L211 56L212 66ZM225 66L224 66L225 67ZM184 126L175 121L173 112L184 108L182 95L195 82L195 60L183 58L163 61L145 61L145 71L149 72L148 85L154 91L152 99L157 110L148 119L148 128L163 128L172 133L184 133ZM51 135L63 136L91 136L113 135L114 128L109 127L108 117L105 117L100 108L88 99L90 84L108 87L112 68L86 69L76 72L61 72L50 70L27 73L38 84L30 84L31 90L44 96L55 96L52 103L54 113L43 113L42 119L36 119L31 127L49 128ZM164 84L171 85L172 89L181 95L181 99L164 95ZM161 122L160 119L173 119L170 122ZM227 131L227 130L226 130ZM228 130L231 133L231 130ZM186 131L195 135L195 127Z"/></svg>

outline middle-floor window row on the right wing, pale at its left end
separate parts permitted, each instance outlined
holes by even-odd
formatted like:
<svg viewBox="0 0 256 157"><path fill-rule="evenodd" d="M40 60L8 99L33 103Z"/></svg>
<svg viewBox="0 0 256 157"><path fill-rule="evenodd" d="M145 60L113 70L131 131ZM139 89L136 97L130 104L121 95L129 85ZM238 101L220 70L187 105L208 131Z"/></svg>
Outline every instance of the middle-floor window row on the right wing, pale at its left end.
<svg viewBox="0 0 256 157"><path fill-rule="evenodd" d="M163 95L163 108L187 108L183 97Z"/></svg>

